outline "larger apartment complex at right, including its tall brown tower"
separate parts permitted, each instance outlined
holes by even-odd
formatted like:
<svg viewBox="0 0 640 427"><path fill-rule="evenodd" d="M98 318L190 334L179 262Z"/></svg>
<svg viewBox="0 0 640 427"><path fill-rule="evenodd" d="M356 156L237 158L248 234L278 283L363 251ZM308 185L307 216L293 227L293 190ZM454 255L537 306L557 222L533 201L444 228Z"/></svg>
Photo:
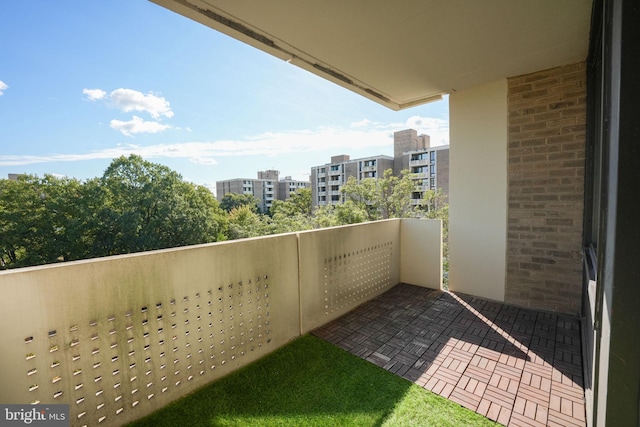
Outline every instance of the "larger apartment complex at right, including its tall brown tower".
<svg viewBox="0 0 640 427"><path fill-rule="evenodd" d="M425 192L440 189L449 194L449 146L431 147L429 135L418 135L414 129L393 134L393 157L379 155L353 159L346 155L331 157L331 163L311 168L311 197L314 206L344 202L340 191L350 176L358 181L382 177L392 169L399 176L403 170L411 173L415 182L412 203L426 203Z"/></svg>

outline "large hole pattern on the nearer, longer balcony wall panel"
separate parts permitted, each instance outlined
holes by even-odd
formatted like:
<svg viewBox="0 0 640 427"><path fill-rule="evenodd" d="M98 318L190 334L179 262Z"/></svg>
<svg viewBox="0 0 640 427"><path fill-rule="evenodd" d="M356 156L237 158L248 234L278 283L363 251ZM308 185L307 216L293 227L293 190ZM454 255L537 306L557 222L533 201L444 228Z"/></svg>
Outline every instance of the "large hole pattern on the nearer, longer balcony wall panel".
<svg viewBox="0 0 640 427"><path fill-rule="evenodd" d="M26 336L25 391L32 402L69 403L78 425L119 425L123 412L147 411L269 345L270 292L263 274Z"/></svg>

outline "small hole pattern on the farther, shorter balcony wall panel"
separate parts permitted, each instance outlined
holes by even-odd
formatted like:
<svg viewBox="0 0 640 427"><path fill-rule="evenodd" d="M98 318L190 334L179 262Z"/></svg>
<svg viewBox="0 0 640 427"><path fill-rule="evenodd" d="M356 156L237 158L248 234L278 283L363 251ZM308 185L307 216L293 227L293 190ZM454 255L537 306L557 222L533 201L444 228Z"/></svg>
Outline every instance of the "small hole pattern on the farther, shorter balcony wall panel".
<svg viewBox="0 0 640 427"><path fill-rule="evenodd" d="M393 242L324 259L324 313L333 314L368 301L392 283Z"/></svg>

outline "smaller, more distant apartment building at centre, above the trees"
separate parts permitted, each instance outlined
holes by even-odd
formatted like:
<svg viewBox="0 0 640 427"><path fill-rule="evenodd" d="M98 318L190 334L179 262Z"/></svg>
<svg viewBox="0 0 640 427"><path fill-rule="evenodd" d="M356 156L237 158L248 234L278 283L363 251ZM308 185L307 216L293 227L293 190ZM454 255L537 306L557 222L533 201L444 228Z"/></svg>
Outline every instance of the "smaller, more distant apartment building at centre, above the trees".
<svg viewBox="0 0 640 427"><path fill-rule="evenodd" d="M308 181L297 181L290 176L279 180L277 170L258 171L258 178L234 178L216 182L216 198L222 198L229 193L251 194L259 200L258 207L262 212L271 208L274 200L287 200L291 193L300 188L309 188Z"/></svg>

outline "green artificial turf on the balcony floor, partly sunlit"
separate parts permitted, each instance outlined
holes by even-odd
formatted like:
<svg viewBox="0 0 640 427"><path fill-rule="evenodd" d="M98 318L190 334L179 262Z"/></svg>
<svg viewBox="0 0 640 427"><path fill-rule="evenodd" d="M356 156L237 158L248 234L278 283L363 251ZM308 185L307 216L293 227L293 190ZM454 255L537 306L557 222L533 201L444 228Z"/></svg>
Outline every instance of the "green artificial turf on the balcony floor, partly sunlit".
<svg viewBox="0 0 640 427"><path fill-rule="evenodd" d="M177 400L133 426L495 426L313 336Z"/></svg>

